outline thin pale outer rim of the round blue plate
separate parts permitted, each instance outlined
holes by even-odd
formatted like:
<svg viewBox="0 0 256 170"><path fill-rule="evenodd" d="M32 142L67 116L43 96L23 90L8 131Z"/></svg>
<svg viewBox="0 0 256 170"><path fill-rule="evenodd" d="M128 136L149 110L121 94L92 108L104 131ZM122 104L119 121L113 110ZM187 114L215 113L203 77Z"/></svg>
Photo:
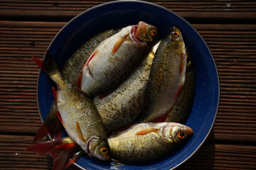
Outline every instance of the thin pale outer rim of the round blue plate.
<svg viewBox="0 0 256 170"><path fill-rule="evenodd" d="M184 162L186 162L188 159L190 159L191 157L193 157L193 155L198 151L198 149L201 148L201 146L203 145L203 143L206 141L208 135L210 134L212 128L213 128L213 124L215 123L215 118L216 118L216 115L218 113L218 106L219 106L219 101L220 101L220 81L219 81L219 77L218 77L218 69L216 67L216 64L215 64L215 61L213 59L213 55L211 54L210 52L210 49L208 47L208 45L206 44L205 40L203 40L203 38L201 37L201 35L198 33L198 31L193 28L193 26L191 26L190 23L188 23L188 21L186 21L184 18L182 18L181 16L178 16L176 13L174 13L173 11L170 11L169 9L167 8L164 8L163 6L159 6L157 4L152 4L150 2L146 2L146 1L134 1L134 0L130 0L130 1L122 1L122 0L119 0L119 1L110 1L110 2L107 2L105 4L100 4L100 5L97 5L97 6L94 6L92 8L89 8L87 9L86 11L83 11L82 13L78 14L78 16L75 16L73 19L71 19L68 23L65 24L65 26L63 26L63 28L61 28L58 33L55 35L55 37L53 38L53 40L50 42L50 45L48 46L47 50L50 50L50 47L52 47L53 45L53 42L55 42L56 38L58 38L58 36L60 35L60 33L63 32L63 30L65 28L67 28L70 23L72 23L73 21L75 21L77 18L79 18L80 16L84 15L85 13L88 13L90 11L93 11L97 8L102 8L103 6L109 6L109 5L112 5L112 4L125 4L125 3L132 3L132 4L144 4L144 5L148 5L148 6L154 6L156 8L160 8L164 11L167 11L169 13L171 13L172 15L180 18L183 22L185 22L188 26L190 26L193 31L198 35L199 38L201 38L201 40L203 41L205 47L207 48L208 52L209 52L209 55L211 57L211 60L213 61L213 65L215 68L215 77L217 79L217 84L218 84L218 87L215 87L216 89L218 88L218 101L216 102L217 103L217 106L216 106L216 110L215 110L215 114L214 114L214 117L213 117L213 121L212 121L212 124L210 125L210 128L208 128L208 133L206 134L206 136L204 137L204 139L201 141L200 145L198 145L198 147L196 147L196 149L193 150L193 152L188 156L186 157L186 159L183 159L183 161L181 162L178 162L178 164L176 164L175 166L172 166L171 169L176 169L178 166L180 166L181 164L183 164ZM45 59L45 56L43 57L43 60ZM41 79L41 73L42 73L42 70L40 69L39 72L38 72L38 80L37 80L37 89L36 89L36 96L37 96L37 105L38 105L38 112L39 112L39 115L40 115L40 118L41 118L41 122L43 123L43 116L42 116L42 112L41 112L41 108L40 108L40 102L39 102L39 94L38 94L38 89L39 89L39 81ZM50 136L49 136L50 137ZM78 166L80 169L85 169L84 167L80 166L79 164L75 163L75 166ZM160 167L161 168L161 167ZM86 170L86 169L85 169Z"/></svg>

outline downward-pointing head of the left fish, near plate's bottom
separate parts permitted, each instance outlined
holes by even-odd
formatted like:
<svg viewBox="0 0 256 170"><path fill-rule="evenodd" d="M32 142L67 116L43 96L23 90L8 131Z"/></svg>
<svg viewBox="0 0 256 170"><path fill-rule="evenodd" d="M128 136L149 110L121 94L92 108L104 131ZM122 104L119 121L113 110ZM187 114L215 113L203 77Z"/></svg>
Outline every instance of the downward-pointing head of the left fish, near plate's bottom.
<svg viewBox="0 0 256 170"><path fill-rule="evenodd" d="M110 149L107 145L107 142L100 138L93 138L88 142L88 149L92 157L97 159L107 161L110 160Z"/></svg>

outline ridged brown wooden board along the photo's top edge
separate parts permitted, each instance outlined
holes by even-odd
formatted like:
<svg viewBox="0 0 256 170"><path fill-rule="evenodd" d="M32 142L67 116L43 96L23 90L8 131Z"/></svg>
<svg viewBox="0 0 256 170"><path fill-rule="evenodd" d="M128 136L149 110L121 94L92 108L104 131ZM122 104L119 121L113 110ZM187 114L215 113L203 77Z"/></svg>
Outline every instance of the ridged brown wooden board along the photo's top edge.
<svg viewBox="0 0 256 170"><path fill-rule="evenodd" d="M0 16L16 18L66 18L107 1L18 1L1 0ZM256 18L255 1L150 1L185 18ZM50 13L50 15L49 15Z"/></svg>

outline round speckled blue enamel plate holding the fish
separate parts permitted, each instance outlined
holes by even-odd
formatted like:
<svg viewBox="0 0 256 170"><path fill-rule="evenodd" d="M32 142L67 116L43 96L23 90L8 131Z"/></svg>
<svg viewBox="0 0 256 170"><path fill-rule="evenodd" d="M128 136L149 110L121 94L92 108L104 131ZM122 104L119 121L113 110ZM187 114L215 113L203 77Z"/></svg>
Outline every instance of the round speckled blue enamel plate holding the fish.
<svg viewBox="0 0 256 170"><path fill-rule="evenodd" d="M186 125L194 135L183 147L154 162L120 166L118 169L174 169L181 165L203 145L210 133L218 111L220 85L218 72L206 42L183 18L166 8L144 1L113 1L90 8L68 22L53 38L48 50L61 66L75 50L97 33L110 28L137 24L139 21L153 24L164 37L172 26L183 35L196 69L196 95L193 109ZM42 71L38 76L38 108L42 121L53 101L52 81ZM81 169L110 169L110 162L102 162L87 156L76 163Z"/></svg>

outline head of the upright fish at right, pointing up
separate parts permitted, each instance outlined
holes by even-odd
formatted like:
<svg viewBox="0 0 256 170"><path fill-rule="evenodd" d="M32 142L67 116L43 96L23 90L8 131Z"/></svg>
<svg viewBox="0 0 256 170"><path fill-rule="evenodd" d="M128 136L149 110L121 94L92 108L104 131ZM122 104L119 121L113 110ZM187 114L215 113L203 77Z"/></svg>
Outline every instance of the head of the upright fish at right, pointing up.
<svg viewBox="0 0 256 170"><path fill-rule="evenodd" d="M185 49L185 43L183 41L183 37L181 31L173 26L169 33L166 35L167 41L169 41L169 47L173 50L182 51Z"/></svg>

